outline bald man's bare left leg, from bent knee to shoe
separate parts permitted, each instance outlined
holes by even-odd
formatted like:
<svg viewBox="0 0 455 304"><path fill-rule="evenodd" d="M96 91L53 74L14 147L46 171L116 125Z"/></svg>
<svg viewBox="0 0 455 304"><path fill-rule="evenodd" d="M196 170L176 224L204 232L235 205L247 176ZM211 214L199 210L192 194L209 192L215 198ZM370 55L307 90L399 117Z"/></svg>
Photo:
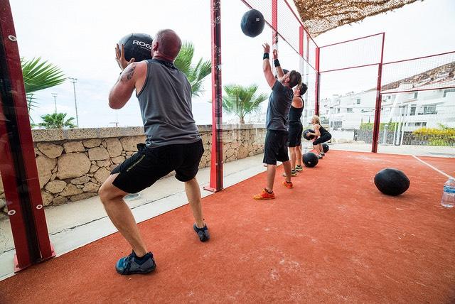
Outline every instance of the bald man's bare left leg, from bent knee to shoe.
<svg viewBox="0 0 455 304"><path fill-rule="evenodd" d="M136 255L144 256L148 251L139 233L136 220L123 200L128 193L112 185L117 175L118 173L109 175L109 178L102 184L99 190L100 199L112 224L132 246Z"/></svg>

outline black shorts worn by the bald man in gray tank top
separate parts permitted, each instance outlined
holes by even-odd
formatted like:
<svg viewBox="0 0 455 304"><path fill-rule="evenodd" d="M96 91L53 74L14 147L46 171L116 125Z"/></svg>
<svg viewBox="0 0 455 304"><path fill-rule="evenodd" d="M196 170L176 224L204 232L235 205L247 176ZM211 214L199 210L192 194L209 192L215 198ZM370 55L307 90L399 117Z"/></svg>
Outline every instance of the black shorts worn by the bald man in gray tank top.
<svg viewBox="0 0 455 304"><path fill-rule="evenodd" d="M202 141L156 148L146 148L144 143L139 143L137 149L137 153L111 172L119 173L112 184L127 193L144 190L173 170L176 171L176 178L182 182L193 179L204 153Z"/></svg>

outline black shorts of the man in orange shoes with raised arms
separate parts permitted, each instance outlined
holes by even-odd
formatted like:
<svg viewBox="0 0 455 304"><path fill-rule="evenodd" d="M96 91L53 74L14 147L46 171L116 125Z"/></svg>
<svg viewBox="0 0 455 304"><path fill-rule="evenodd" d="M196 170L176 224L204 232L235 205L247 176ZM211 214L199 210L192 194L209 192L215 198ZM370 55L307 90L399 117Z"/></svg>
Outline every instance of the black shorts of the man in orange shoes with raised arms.
<svg viewBox="0 0 455 304"><path fill-rule="evenodd" d="M287 155L288 131L267 130L264 143L264 160L262 163L276 165L277 161L289 161Z"/></svg>

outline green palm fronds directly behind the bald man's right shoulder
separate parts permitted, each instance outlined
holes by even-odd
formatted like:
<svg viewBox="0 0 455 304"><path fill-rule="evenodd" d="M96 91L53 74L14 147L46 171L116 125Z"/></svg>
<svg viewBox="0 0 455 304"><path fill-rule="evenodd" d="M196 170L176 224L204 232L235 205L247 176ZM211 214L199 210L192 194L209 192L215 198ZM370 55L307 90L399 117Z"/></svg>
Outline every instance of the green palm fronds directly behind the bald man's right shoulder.
<svg viewBox="0 0 455 304"><path fill-rule="evenodd" d="M193 43L188 41L183 42L180 53L178 53L178 56L174 61L174 65L188 77L191 84L191 94L193 96L200 96L200 93L203 92L203 79L212 72L212 63L210 60L203 60L203 58L200 58L195 66L192 63L193 55Z"/></svg>

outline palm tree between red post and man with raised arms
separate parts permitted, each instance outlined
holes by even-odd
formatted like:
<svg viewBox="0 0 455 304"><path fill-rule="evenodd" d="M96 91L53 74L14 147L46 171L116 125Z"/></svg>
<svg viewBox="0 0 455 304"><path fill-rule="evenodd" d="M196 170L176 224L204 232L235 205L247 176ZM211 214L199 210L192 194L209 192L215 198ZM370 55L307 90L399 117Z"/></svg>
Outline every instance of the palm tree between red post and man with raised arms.
<svg viewBox="0 0 455 304"><path fill-rule="evenodd" d="M223 109L237 115L240 124L245 124L245 116L252 112L259 112L260 104L268 98L267 94L256 94L257 85L242 87L242 85L225 85L223 95Z"/></svg>

